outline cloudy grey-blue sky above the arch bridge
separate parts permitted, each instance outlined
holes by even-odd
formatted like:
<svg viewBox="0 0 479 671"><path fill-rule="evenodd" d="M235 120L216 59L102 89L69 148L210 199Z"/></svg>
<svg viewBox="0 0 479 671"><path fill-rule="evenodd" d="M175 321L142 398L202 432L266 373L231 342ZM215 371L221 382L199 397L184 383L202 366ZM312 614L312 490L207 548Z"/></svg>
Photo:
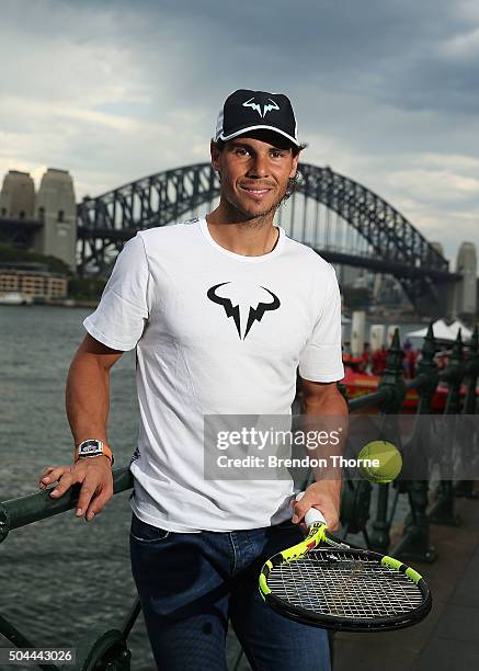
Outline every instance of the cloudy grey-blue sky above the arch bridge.
<svg viewBox="0 0 479 671"><path fill-rule="evenodd" d="M0 0L0 175L78 200L208 160L235 89L455 257L479 236L478 0Z"/></svg>

